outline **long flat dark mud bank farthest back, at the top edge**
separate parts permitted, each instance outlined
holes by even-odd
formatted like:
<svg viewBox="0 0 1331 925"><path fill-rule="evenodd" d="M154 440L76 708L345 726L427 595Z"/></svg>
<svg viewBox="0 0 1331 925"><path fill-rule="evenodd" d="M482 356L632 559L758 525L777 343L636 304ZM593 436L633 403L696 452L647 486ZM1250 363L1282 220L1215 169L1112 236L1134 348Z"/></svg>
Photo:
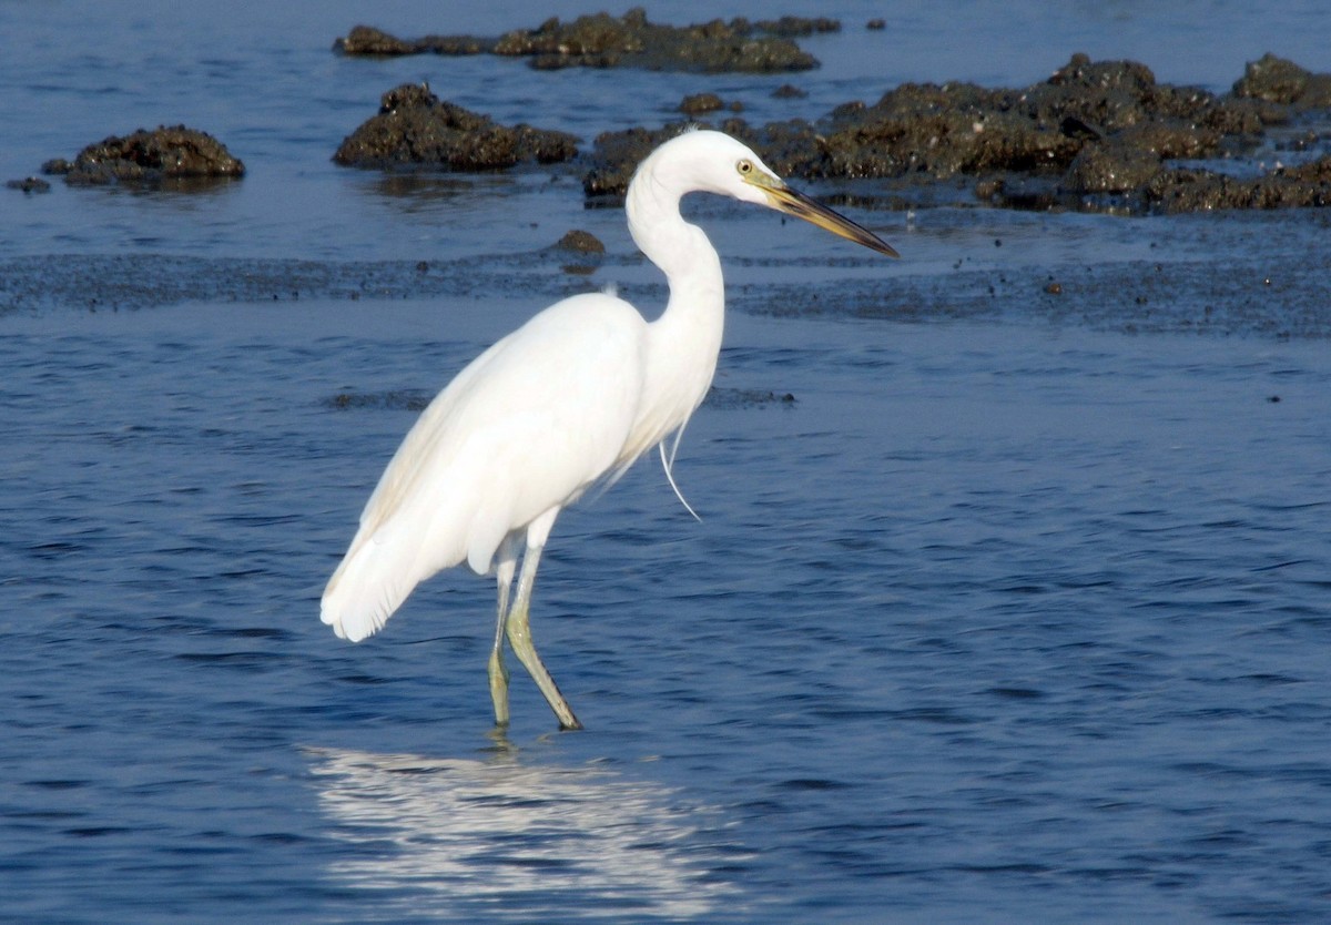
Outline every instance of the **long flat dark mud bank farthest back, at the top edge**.
<svg viewBox="0 0 1331 925"><path fill-rule="evenodd" d="M334 43L343 55L504 55L528 59L538 69L647 68L707 73L776 73L809 71L817 60L800 51L792 36L840 29L836 20L784 16L752 23L712 20L687 27L658 25L642 8L622 17L579 16L572 23L552 17L535 29L515 29L498 39L425 36L398 39L358 25Z"/></svg>

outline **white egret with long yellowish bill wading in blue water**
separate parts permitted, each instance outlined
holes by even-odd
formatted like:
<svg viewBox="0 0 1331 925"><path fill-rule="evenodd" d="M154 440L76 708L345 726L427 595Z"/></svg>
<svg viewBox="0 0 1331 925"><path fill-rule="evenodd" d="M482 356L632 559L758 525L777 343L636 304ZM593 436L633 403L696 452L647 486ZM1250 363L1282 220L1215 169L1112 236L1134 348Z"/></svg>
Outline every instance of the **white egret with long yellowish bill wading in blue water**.
<svg viewBox="0 0 1331 925"><path fill-rule="evenodd" d="M582 728L532 644L531 588L555 518L590 487L612 483L654 446L673 486L666 441L673 435L677 446L712 382L725 302L716 250L679 212L693 192L777 209L897 256L791 189L727 134L693 130L660 145L639 165L624 206L634 241L669 282L664 313L648 322L614 295L574 295L463 369L403 439L323 591L321 616L338 636L359 642L378 631L443 568L466 562L478 575L492 570L495 721L508 723L507 638L559 725Z"/></svg>

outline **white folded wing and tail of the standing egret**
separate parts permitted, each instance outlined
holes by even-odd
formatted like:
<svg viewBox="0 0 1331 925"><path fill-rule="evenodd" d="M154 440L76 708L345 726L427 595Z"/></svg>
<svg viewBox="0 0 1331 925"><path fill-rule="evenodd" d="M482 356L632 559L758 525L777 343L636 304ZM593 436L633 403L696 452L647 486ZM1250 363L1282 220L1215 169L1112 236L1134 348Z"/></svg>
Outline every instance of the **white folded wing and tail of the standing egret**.
<svg viewBox="0 0 1331 925"><path fill-rule="evenodd" d="M474 359L406 435L323 592L359 640L422 580L491 567L507 535L615 468L643 391L646 322L607 294L542 311Z"/></svg>

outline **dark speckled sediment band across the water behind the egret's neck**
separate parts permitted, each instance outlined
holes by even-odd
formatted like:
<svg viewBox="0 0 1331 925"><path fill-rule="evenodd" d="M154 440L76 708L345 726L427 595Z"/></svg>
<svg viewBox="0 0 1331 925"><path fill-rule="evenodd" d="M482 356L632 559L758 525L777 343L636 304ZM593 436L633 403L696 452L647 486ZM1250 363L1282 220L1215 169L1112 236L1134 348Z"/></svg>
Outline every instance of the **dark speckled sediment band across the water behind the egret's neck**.
<svg viewBox="0 0 1331 925"><path fill-rule="evenodd" d="M1057 214L994 217L1017 222L1026 236L1066 232ZM1166 221L1166 220L1162 220ZM828 285L829 268L880 265L872 256L815 260L792 256L779 268L816 268L809 282L749 282L728 293L729 310L776 317L889 319L949 323L1049 323L1122 333L1189 333L1206 337L1331 339L1331 277L1308 260L1308 241L1327 230L1327 213L1276 216L1235 212L1225 218L1169 218L1159 260L1085 261L966 268L932 274L873 273ZM1033 226L1034 222L1034 226ZM1111 224L1113 225L1113 224ZM1133 233L1134 236L1137 232ZM579 236L580 237L580 236ZM1174 253L1173 241L1205 240ZM590 245L588 245L590 246ZM1154 245L1153 245L1154 249ZM639 266L627 238L612 253L546 246L538 250L430 261L298 261L130 256L51 256L0 261L0 318L53 309L138 310L206 303L225 318L228 303L269 303L282 311L295 301L438 301L441 325L459 299L507 299L532 310L594 289L564 266L595 260L599 266ZM741 261L752 268L753 261ZM799 274L795 274L797 278ZM791 279L781 273L777 278ZM663 282L620 287L648 314L668 297ZM780 398L781 393L776 395ZM354 406L354 402L351 403Z"/></svg>

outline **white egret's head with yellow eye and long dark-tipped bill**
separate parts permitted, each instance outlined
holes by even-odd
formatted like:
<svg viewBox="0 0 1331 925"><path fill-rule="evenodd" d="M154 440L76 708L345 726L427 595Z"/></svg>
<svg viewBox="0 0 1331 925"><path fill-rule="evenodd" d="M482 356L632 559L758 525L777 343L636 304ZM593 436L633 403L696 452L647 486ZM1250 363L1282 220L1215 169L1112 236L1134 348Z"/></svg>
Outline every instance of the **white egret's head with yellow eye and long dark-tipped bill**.
<svg viewBox="0 0 1331 925"><path fill-rule="evenodd" d="M728 134L707 129L688 132L662 145L658 153L664 153L668 148L688 148L685 157L662 158L663 161L669 160L693 174L681 178L681 185L688 189L719 193L743 202L764 205L768 209L803 218L848 241L877 250L880 254L900 256L892 245L869 229L792 189L752 149Z"/></svg>

